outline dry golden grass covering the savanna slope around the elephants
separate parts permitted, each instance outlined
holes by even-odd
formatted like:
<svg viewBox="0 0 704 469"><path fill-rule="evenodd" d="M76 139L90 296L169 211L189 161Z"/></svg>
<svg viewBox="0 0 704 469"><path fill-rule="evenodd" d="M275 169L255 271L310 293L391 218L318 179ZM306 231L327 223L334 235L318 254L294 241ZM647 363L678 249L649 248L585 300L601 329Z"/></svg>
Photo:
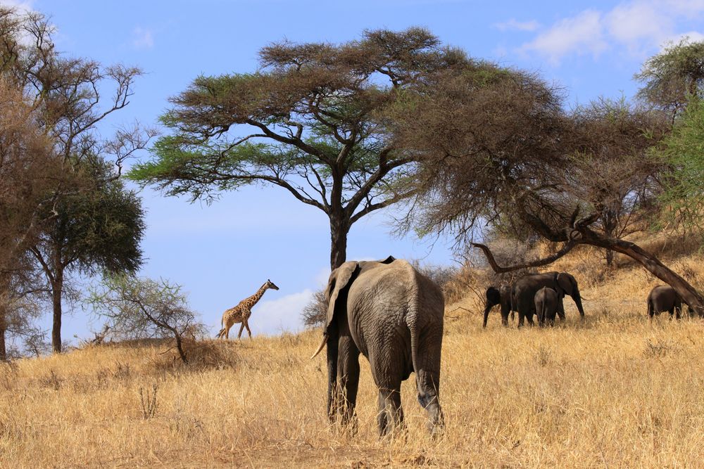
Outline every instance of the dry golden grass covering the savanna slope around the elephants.
<svg viewBox="0 0 704 469"><path fill-rule="evenodd" d="M691 245L656 239L648 247L701 285L704 257ZM358 435L331 428L324 358L308 358L320 340L315 330L191 342L187 367L158 342L2 364L0 465L700 466L704 323L665 314L650 325L645 297L660 282L620 260L605 274L598 253L584 249L551 266L581 283L583 323L567 299L558 327L502 328L495 310L482 330L480 281L449 304L446 432L437 440L425 430L413 375L402 390L406 433L377 437L365 361Z"/></svg>

